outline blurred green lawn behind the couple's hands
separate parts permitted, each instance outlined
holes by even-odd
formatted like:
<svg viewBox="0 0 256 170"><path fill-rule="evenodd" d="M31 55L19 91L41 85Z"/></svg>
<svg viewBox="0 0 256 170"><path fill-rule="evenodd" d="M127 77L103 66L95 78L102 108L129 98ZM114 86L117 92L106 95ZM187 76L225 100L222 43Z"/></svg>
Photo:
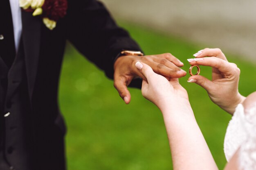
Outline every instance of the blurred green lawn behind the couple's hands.
<svg viewBox="0 0 256 170"><path fill-rule="evenodd" d="M186 71L189 69L186 59L206 47L136 24L119 22L119 25L130 32L146 54L171 52L184 62ZM248 95L255 91L256 66L238 56L227 53L226 57L241 69L240 93ZM201 67L201 75L211 78L211 68ZM223 140L231 116L214 105L204 89L187 83L188 78L189 74L180 78L180 83L189 93L198 124L222 169L226 163ZM59 101L68 128L69 170L172 169L162 114L141 96L139 89L130 88L130 92L132 100L125 105L112 80L72 46L67 46Z"/></svg>

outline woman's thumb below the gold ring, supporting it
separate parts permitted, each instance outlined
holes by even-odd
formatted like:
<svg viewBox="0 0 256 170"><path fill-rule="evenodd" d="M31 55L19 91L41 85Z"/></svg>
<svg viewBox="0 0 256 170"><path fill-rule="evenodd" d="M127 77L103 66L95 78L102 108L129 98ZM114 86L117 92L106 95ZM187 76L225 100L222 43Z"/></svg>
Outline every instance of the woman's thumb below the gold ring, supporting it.
<svg viewBox="0 0 256 170"><path fill-rule="evenodd" d="M196 83L206 89L208 92L211 87L213 87L214 83L210 81L209 79L205 78L204 76L196 75L196 76L191 76L189 77L188 80L189 83Z"/></svg>

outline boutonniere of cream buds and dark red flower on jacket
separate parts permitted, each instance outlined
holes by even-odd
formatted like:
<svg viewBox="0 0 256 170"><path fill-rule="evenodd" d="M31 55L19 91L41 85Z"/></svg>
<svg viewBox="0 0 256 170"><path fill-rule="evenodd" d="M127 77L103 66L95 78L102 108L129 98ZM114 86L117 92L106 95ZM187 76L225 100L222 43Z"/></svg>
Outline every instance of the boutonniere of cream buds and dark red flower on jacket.
<svg viewBox="0 0 256 170"><path fill-rule="evenodd" d="M33 12L33 16L41 15L47 28L53 30L56 22L67 12L67 0L20 0L20 7Z"/></svg>

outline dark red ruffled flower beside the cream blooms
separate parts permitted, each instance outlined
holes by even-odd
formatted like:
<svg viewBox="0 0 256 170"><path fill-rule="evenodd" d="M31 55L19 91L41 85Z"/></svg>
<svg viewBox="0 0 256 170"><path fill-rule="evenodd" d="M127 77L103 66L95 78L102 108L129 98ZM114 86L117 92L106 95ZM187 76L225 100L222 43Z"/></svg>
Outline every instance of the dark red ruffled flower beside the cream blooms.
<svg viewBox="0 0 256 170"><path fill-rule="evenodd" d="M42 9L43 17L58 21L58 19L64 17L67 13L67 0L45 0Z"/></svg>

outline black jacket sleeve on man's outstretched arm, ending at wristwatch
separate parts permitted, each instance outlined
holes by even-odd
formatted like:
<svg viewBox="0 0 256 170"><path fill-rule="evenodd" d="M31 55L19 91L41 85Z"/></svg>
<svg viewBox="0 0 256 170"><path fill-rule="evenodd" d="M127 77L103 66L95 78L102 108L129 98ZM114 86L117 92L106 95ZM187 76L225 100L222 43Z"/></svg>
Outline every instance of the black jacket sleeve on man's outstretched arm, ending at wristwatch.
<svg viewBox="0 0 256 170"><path fill-rule="evenodd" d="M69 0L66 19L67 39L109 78L113 78L113 64L119 52L141 51L97 0Z"/></svg>

